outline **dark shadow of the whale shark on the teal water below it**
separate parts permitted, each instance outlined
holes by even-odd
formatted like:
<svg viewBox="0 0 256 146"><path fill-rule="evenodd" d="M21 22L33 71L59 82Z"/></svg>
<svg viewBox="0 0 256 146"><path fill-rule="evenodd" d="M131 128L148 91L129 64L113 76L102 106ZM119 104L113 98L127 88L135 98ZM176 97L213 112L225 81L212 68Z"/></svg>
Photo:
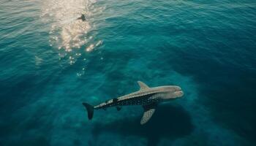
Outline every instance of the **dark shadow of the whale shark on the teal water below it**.
<svg viewBox="0 0 256 146"><path fill-rule="evenodd" d="M116 133L122 136L138 136L148 140L148 146L156 146L161 138L176 139L190 134L193 130L190 115L183 107L161 105L148 123L141 126L136 118L124 118L113 123L95 123L92 130L94 139L91 145L97 142L99 134ZM108 141L108 139L105 139Z"/></svg>

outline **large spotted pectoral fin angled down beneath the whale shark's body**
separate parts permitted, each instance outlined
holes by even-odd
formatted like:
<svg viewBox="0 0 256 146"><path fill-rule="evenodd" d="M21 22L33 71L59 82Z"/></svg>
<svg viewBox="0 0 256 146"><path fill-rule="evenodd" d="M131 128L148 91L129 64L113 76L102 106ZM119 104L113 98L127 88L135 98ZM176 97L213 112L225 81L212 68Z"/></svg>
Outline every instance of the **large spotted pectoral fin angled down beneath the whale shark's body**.
<svg viewBox="0 0 256 146"><path fill-rule="evenodd" d="M143 125L148 122L148 120L152 117L154 114L154 111L156 110L155 108L157 107L156 104L149 104L146 106L143 106L144 113L143 117L140 120L140 124Z"/></svg>

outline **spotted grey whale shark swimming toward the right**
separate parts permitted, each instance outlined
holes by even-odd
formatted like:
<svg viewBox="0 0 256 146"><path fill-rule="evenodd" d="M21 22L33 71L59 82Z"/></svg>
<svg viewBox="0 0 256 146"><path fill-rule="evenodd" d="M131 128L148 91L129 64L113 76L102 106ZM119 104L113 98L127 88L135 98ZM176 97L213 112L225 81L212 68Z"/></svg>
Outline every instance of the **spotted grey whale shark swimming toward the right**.
<svg viewBox="0 0 256 146"><path fill-rule="evenodd" d="M152 117L159 103L177 99L184 95L184 92L177 85L149 88L148 85L141 81L138 81L138 85L140 86L139 91L110 99L96 106L83 102L89 120L93 118L94 110L106 110L109 107L116 107L116 110L119 111L122 106L141 105L144 113L140 120L140 124L143 125Z"/></svg>

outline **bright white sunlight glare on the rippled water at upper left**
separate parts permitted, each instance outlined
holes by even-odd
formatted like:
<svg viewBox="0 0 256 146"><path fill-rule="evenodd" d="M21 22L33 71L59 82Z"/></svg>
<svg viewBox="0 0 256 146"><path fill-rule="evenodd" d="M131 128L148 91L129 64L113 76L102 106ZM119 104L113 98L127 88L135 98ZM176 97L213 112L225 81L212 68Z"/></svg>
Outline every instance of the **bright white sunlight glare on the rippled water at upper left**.
<svg viewBox="0 0 256 146"><path fill-rule="evenodd" d="M42 2L42 19L50 23L49 44L58 48L59 57L67 57L75 64L83 53L89 53L102 44L97 38L94 16L104 7L95 7L95 0L46 0ZM78 20L84 14L86 20Z"/></svg>

